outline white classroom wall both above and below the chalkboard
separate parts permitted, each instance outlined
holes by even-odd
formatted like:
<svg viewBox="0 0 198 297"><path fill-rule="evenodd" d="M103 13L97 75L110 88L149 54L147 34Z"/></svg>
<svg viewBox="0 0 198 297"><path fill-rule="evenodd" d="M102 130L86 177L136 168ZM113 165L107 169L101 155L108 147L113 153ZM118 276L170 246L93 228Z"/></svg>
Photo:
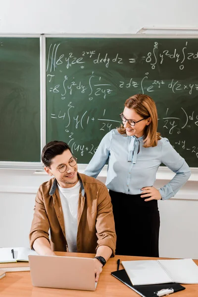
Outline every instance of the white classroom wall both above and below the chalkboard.
<svg viewBox="0 0 198 297"><path fill-rule="evenodd" d="M197 0L0 0L0 33L129 34L145 26L198 27L197 11ZM157 176L156 187L167 182L167 174ZM35 194L47 179L32 170L0 170L0 247L28 246ZM198 259L197 180L195 172L174 199L159 201L160 256Z"/></svg>

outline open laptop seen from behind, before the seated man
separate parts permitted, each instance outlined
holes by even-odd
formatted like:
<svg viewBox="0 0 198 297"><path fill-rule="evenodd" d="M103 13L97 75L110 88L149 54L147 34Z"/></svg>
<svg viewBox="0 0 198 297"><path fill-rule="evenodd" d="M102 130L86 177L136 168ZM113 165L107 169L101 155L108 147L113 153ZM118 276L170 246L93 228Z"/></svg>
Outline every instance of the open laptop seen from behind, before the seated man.
<svg viewBox="0 0 198 297"><path fill-rule="evenodd" d="M93 258L29 255L34 287L95 291Z"/></svg>

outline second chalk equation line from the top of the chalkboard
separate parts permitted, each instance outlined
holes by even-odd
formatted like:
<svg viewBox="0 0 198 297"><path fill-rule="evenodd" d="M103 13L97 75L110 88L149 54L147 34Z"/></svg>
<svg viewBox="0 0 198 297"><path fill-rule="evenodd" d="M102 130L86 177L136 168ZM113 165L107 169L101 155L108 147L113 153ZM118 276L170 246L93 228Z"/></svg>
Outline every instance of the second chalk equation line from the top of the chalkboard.
<svg viewBox="0 0 198 297"><path fill-rule="evenodd" d="M55 76L55 75L53 75ZM198 94L198 81L196 83L180 82L177 79L171 78L170 80L153 80L149 78L149 72L146 72L144 77L137 81L136 79L130 78L128 81L116 81L114 85L105 81L101 76L92 75L87 77L87 83L82 83L81 80L75 79L73 77L68 80L67 75L64 76L63 81L60 84L53 85L52 75L48 74L49 83L52 85L49 87L49 92L60 94L62 100L73 95L73 92L79 92L80 94L85 94L86 98L89 100L97 99L102 97L106 99L109 96L116 94L117 88L131 90L131 92L141 91L142 94L151 94L159 89L165 90L169 89L172 93L182 93L184 90L189 95Z"/></svg>

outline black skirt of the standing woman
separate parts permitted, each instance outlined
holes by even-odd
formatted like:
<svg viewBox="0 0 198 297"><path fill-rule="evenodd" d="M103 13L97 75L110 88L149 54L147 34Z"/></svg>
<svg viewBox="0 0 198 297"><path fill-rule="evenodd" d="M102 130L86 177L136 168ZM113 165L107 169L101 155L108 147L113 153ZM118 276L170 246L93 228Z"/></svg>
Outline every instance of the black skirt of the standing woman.
<svg viewBox="0 0 198 297"><path fill-rule="evenodd" d="M117 255L159 256L159 211L157 200L109 190L113 205Z"/></svg>

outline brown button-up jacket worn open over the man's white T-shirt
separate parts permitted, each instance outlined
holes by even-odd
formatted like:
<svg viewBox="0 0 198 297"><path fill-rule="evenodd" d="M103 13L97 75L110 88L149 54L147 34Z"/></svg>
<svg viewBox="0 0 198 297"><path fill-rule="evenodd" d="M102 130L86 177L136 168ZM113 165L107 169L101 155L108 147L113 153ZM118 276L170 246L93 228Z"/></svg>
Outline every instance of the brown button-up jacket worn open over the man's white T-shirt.
<svg viewBox="0 0 198 297"><path fill-rule="evenodd" d="M77 251L96 253L99 246L108 246L115 254L115 225L111 198L99 180L79 174L81 190L78 201ZM68 251L64 217L55 178L43 183L37 193L30 246L39 237L49 240L54 251Z"/></svg>

